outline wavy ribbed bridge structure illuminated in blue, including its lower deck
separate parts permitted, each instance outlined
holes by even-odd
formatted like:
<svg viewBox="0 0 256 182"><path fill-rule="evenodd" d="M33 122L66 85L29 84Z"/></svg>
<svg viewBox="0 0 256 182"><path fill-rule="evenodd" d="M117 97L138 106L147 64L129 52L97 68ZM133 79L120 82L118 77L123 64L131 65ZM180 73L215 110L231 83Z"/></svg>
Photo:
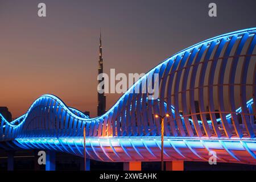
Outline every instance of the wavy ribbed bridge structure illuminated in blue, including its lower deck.
<svg viewBox="0 0 256 182"><path fill-rule="evenodd" d="M0 115L4 150L47 150L104 162L217 161L256 164L256 28L197 43L141 77L104 115L89 118L56 96L39 97L8 122ZM135 93L158 73L159 96Z"/></svg>

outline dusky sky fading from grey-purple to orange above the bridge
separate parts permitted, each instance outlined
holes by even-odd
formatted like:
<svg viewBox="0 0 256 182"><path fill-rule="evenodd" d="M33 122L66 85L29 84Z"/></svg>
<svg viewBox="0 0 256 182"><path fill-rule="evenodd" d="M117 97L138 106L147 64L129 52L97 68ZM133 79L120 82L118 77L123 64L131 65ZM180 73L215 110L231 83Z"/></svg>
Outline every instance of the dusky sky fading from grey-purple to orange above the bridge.
<svg viewBox="0 0 256 182"><path fill-rule="evenodd" d="M210 2L217 18L208 16ZM202 40L255 27L255 7L255 0L0 0L0 106L15 118L51 93L95 116L100 28L104 72L145 73ZM107 109L119 96L107 94Z"/></svg>

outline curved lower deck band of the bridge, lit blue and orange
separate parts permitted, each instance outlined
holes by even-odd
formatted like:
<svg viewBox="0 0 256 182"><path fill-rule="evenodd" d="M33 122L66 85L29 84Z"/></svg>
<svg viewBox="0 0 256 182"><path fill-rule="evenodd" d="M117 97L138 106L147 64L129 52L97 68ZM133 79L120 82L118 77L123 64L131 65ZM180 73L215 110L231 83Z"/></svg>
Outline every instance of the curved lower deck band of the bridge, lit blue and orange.
<svg viewBox="0 0 256 182"><path fill-rule="evenodd" d="M3 146L3 143L2 143ZM84 156L84 139L77 138L20 138L10 148L39 149L67 152ZM17 148L13 148L15 150ZM86 156L104 162L154 162L160 160L160 137L87 137ZM254 139L164 139L164 160L185 160L208 162L210 152L216 152L217 162L256 164L256 143Z"/></svg>

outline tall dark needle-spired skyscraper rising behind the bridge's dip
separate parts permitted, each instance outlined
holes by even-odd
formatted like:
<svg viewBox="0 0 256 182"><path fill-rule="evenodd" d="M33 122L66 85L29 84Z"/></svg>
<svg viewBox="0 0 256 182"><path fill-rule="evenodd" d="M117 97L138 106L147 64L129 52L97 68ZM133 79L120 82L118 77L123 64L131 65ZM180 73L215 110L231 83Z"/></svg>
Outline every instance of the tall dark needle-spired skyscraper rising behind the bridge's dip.
<svg viewBox="0 0 256 182"><path fill-rule="evenodd" d="M98 60L98 75L100 75L101 73L103 73L103 58L102 58L102 44L101 44L101 32L100 32L100 59ZM102 78L102 80L98 81L98 84L100 84L101 81L104 81L104 77ZM97 108L97 115L100 116L102 114L105 113L106 111L106 96L104 93L104 85L102 86L102 88L98 88L98 89L102 89L103 92L99 93L98 92L98 108Z"/></svg>

